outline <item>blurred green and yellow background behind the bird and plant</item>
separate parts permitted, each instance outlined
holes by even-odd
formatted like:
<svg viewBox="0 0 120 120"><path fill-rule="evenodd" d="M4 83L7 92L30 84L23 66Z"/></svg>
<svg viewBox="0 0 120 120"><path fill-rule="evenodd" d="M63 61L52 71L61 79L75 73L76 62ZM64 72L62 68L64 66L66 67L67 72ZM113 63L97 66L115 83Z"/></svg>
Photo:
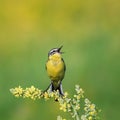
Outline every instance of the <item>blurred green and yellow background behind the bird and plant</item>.
<svg viewBox="0 0 120 120"><path fill-rule="evenodd" d="M120 119L119 0L0 1L0 119L55 120L58 104L16 99L9 89L50 83L47 53L63 45L70 95L80 84L100 109L102 120Z"/></svg>

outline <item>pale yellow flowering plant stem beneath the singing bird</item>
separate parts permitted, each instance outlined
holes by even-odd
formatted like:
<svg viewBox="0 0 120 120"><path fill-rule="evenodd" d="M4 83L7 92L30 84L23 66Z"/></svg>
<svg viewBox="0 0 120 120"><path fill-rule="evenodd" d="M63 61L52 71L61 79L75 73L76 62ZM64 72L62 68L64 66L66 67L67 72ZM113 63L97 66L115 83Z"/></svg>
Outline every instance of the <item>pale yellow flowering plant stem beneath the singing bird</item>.
<svg viewBox="0 0 120 120"><path fill-rule="evenodd" d="M74 120L98 120L98 110L95 104L84 96L84 91L79 85L75 85L75 94L69 98L68 92L64 96L60 96L59 91L50 90L42 92L42 90L31 86L30 88L23 89L21 86L10 89L10 92L17 98L30 98L32 100L43 98L45 101L54 98L59 103L59 109L63 112L68 112ZM81 107L81 102L84 101L84 107ZM60 115L57 120L67 120Z"/></svg>

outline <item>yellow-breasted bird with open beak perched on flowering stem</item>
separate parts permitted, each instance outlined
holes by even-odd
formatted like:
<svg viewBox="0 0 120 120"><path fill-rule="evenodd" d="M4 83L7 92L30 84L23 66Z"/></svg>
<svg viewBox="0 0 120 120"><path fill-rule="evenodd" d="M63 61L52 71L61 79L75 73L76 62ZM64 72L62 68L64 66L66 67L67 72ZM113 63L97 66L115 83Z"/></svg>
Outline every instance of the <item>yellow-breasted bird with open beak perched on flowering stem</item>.
<svg viewBox="0 0 120 120"><path fill-rule="evenodd" d="M61 56L63 52L60 51L62 47L63 46L61 46L60 48L51 49L48 53L48 61L46 63L46 70L51 80L51 84L49 85L47 90L58 90L61 96L64 95L61 82L64 78L66 70L64 60Z"/></svg>

